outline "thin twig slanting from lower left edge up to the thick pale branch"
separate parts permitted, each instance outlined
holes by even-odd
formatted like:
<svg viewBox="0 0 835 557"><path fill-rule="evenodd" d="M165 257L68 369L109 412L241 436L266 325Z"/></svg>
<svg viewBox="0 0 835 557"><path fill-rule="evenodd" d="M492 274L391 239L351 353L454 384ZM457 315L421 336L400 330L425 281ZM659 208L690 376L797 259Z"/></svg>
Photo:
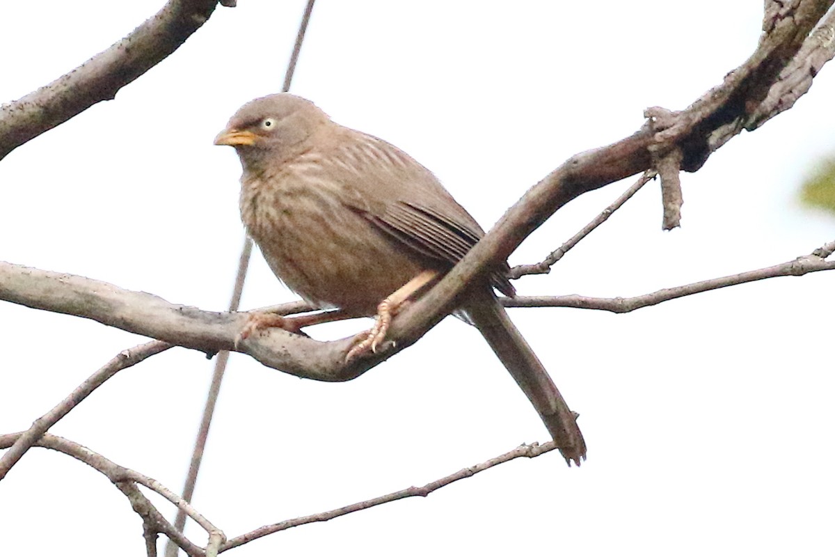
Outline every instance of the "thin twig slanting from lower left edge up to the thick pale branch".
<svg viewBox="0 0 835 557"><path fill-rule="evenodd" d="M55 408L35 420L32 423L32 427L21 434L20 438L15 441L8 452L3 455L3 458L0 458L0 480L6 477L8 471L18 463L18 460L41 438L43 433L46 433L49 428L53 427L55 423L58 423L58 420L66 416L70 410L78 406L84 398L88 397L91 392L94 392L94 390L104 384L110 377L113 377L123 369L142 362L147 357L168 350L171 346L167 342L152 341L119 352L112 360L104 364L99 371L78 385Z"/></svg>

